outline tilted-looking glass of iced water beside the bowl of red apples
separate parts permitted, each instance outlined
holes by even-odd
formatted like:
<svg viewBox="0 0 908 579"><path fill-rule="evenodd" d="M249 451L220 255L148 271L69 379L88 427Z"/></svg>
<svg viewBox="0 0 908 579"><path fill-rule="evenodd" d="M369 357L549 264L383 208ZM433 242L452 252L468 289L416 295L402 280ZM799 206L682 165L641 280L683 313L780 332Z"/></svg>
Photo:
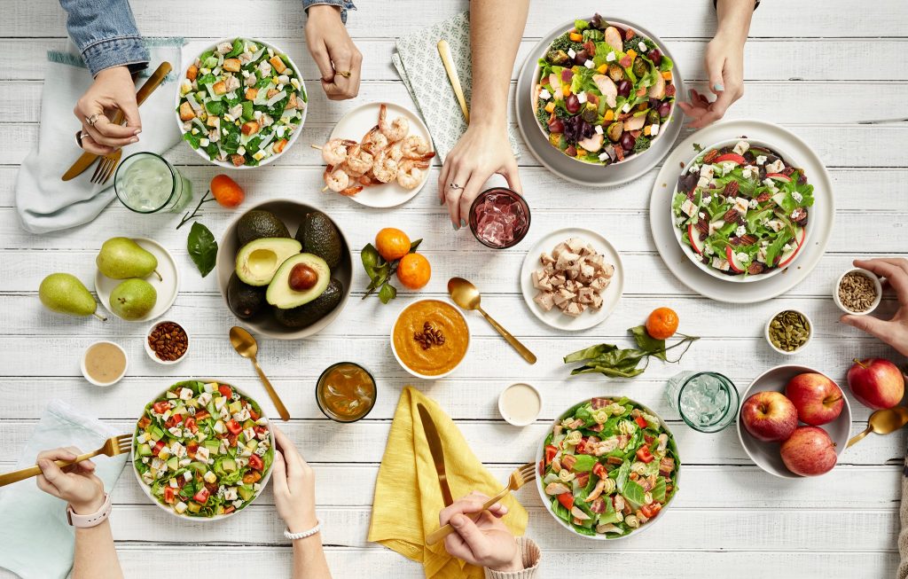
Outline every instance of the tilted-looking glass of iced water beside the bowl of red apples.
<svg viewBox="0 0 908 579"><path fill-rule="evenodd" d="M716 372L681 372L669 378L666 398L687 426L699 432L718 432L737 414L735 384Z"/></svg>

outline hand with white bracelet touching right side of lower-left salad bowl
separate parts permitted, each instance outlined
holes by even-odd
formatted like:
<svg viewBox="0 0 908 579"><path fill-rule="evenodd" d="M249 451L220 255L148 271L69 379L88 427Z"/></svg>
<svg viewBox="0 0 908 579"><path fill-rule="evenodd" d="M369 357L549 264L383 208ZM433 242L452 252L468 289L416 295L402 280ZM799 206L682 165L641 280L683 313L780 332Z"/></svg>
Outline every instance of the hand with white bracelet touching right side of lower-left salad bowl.
<svg viewBox="0 0 908 579"><path fill-rule="evenodd" d="M273 427L278 448L274 449L274 505L291 533L302 533L319 524L315 516L315 473L303 460L290 438Z"/></svg>

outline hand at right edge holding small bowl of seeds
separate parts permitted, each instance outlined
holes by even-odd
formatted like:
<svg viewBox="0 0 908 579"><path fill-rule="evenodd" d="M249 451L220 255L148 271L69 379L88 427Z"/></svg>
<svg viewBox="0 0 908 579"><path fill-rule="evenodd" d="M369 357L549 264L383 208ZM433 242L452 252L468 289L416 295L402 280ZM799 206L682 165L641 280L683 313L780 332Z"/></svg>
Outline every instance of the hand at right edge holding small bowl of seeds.
<svg viewBox="0 0 908 579"><path fill-rule="evenodd" d="M854 267L873 271L885 278L889 287L895 290L899 300L899 309L892 319L879 319L873 316L842 316L842 322L854 328L864 330L883 342L889 344L903 356L908 356L908 260L878 259L854 260Z"/></svg>

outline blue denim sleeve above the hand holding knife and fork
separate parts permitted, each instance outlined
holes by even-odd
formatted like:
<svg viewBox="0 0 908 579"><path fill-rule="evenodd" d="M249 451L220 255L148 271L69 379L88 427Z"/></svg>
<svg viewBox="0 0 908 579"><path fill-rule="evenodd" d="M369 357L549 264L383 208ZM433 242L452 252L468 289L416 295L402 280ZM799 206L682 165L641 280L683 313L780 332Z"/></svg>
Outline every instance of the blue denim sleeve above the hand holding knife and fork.
<svg viewBox="0 0 908 579"><path fill-rule="evenodd" d="M105 68L148 66L148 51L135 25L128 0L60 0L66 29L92 76Z"/></svg>

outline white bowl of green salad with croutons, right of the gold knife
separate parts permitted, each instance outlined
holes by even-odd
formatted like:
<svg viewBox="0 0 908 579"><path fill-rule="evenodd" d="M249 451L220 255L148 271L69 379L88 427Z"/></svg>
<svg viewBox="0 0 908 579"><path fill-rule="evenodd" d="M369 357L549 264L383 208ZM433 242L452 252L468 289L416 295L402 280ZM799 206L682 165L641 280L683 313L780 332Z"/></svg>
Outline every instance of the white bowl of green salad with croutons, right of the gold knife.
<svg viewBox="0 0 908 579"><path fill-rule="evenodd" d="M203 158L232 169L268 164L300 136L308 97L300 67L273 44L225 38L180 76L176 120Z"/></svg>

